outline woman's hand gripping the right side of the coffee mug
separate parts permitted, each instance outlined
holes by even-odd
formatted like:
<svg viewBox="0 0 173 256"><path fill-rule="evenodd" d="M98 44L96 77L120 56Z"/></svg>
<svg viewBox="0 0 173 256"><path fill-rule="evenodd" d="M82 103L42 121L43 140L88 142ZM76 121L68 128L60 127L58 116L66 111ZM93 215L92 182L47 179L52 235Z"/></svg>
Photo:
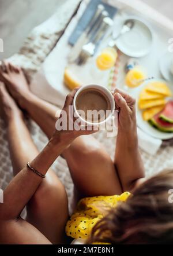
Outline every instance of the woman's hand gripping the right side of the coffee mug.
<svg viewBox="0 0 173 256"><path fill-rule="evenodd" d="M122 90L115 89L114 99L118 110L118 130L136 130L136 100Z"/></svg>

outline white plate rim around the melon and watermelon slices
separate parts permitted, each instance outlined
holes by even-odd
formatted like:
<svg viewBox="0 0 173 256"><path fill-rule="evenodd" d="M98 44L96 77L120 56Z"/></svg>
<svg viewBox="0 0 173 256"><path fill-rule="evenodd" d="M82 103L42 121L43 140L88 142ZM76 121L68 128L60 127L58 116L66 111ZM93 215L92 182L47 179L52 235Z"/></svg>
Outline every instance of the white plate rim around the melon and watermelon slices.
<svg viewBox="0 0 173 256"><path fill-rule="evenodd" d="M137 116L137 125L138 127L140 127L143 131L145 131L145 133L149 134L150 136L154 137L154 138L160 138L161 140L168 140L170 138L173 138L173 133L164 133L162 131L157 130L156 128L152 127L152 125L150 125L147 121L144 121L142 118L142 111L141 109L138 108L138 101L140 98L140 93L142 91L142 89L144 89L144 87L146 85L148 85L148 83L150 82L155 82L155 81L162 81L165 82L161 79L152 79L151 81L147 81L144 82L141 86L139 86L136 91L133 93L133 96L136 98L136 116ZM168 87L171 89L172 88L168 85Z"/></svg>

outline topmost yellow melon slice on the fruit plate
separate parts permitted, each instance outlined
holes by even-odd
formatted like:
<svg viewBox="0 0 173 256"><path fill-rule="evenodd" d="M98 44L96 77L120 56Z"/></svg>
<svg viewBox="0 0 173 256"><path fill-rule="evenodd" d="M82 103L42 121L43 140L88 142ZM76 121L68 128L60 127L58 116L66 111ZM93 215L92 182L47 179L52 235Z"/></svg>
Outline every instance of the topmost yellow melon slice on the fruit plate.
<svg viewBox="0 0 173 256"><path fill-rule="evenodd" d="M171 91L164 82L151 82L146 86L148 92L160 93L163 96L171 96Z"/></svg>

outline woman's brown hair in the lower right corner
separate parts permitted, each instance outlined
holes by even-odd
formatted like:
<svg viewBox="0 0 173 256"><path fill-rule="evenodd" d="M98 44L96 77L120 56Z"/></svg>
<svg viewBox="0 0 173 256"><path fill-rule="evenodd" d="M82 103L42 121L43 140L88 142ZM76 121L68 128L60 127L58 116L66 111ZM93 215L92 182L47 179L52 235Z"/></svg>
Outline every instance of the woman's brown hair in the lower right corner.
<svg viewBox="0 0 173 256"><path fill-rule="evenodd" d="M173 243L170 189L173 189L173 170L163 171L145 181L125 203L119 203L97 222L88 243Z"/></svg>

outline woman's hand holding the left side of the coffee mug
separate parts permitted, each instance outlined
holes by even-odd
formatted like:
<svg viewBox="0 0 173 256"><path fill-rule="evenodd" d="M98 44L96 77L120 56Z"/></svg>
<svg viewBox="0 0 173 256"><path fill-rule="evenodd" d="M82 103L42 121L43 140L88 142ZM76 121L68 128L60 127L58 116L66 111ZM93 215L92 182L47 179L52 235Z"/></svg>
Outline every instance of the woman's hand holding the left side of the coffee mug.
<svg viewBox="0 0 173 256"><path fill-rule="evenodd" d="M75 129L74 123L77 121L76 118L74 118L74 113L73 113L73 99L74 96L77 92L77 90L80 87L77 87L74 89L72 92L70 92L65 100L65 105L63 106L63 109L59 115L59 118L56 123L56 131L54 133L54 136L57 136L58 134L61 134L63 138L66 140L74 139L78 136L81 135L88 135L92 133L96 133L98 131L97 126L80 126L80 123L78 123L78 128ZM70 107L70 108L69 108ZM72 110L72 111L70 111ZM65 125L65 129L59 130L59 127L62 126L62 122ZM70 129L69 129L69 122L70 122Z"/></svg>

